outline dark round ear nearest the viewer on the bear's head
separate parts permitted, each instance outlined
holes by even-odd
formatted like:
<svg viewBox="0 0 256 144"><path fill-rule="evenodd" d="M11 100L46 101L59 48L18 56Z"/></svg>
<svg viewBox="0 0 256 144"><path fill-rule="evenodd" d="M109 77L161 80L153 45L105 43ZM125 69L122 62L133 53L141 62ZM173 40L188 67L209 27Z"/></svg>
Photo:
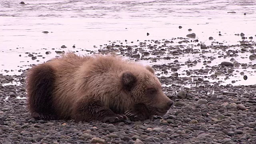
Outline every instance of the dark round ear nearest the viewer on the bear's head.
<svg viewBox="0 0 256 144"><path fill-rule="evenodd" d="M122 83L123 83L124 89L129 91L132 90L136 82L137 82L137 79L131 72L124 72L122 74Z"/></svg>

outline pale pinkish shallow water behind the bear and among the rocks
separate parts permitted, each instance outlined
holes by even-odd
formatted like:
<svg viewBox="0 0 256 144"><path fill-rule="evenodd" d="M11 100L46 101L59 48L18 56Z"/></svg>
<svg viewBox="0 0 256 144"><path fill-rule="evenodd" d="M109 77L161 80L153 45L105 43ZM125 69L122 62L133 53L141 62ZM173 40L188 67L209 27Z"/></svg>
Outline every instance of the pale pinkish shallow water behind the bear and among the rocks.
<svg viewBox="0 0 256 144"><path fill-rule="evenodd" d="M18 4L16 0L2 0L0 3L0 73L20 74L29 64L39 64L60 50L94 50L109 41L135 45L137 40L170 40L196 33L196 39L210 45L215 42L224 45L240 44L240 34L246 37L256 34L256 1L253 0L30 0ZM236 12L236 13L228 13ZM246 13L246 15L244 15ZM178 26L183 28L179 29ZM191 28L192 32L188 32ZM44 34L42 31L50 33ZM150 35L147 36L146 33ZM222 34L219 36L218 34ZM133 42L134 43L131 43ZM119 43L120 43L119 42ZM199 42L198 42L199 43ZM72 48L75 45L76 48ZM177 45L177 43L176 43ZM96 46L97 48L95 48ZM52 54L45 55L46 51ZM25 52L40 53L45 57L31 60ZM80 51L86 54L85 51ZM19 56L21 55L21 56ZM207 54L206 54L207 55ZM180 56L185 62L193 55ZM248 58L236 58L247 63ZM171 60L173 61L173 60ZM216 59L210 65L220 64ZM229 60L226 60L229 61ZM154 63L155 64L155 63ZM202 67L202 65L198 65ZM6 73L4 70L10 72ZM11 71L13 70L13 72ZM179 72L182 72L181 69ZM248 70L250 71L250 70ZM242 76L236 84L253 84L254 71L248 80ZM230 81L227 80L227 83Z"/></svg>

